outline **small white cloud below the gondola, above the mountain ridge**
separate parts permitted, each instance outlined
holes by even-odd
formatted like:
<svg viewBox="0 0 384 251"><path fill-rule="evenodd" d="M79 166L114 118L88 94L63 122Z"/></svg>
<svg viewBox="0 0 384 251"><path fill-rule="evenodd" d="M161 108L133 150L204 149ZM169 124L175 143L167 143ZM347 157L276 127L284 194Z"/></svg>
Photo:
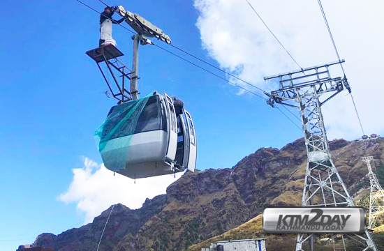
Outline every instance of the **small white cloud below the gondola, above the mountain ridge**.
<svg viewBox="0 0 384 251"><path fill-rule="evenodd" d="M84 167L72 169L73 180L66 192L58 199L66 203L76 203L77 210L84 213L84 223L112 204L121 203L131 209L140 208L146 198L165 194L165 190L183 173L133 179L115 174L89 158L84 158Z"/></svg>

